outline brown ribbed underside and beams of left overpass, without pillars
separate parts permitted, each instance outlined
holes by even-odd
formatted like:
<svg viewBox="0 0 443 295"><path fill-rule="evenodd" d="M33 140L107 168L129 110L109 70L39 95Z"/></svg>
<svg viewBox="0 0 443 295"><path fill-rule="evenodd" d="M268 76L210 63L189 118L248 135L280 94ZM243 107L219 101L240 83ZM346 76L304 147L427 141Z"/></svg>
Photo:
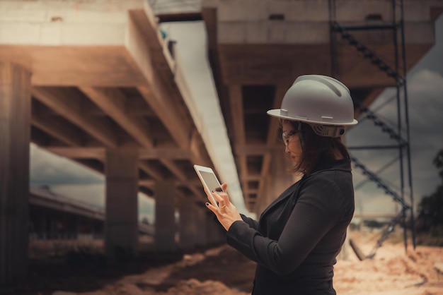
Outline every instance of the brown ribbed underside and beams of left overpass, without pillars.
<svg viewBox="0 0 443 295"><path fill-rule="evenodd" d="M100 35L115 27L75 28L98 44L66 35L51 40L56 46L0 44L1 61L32 73L31 140L101 173L106 149L137 149L142 191L154 195L155 181L171 179L180 195L202 197L192 164L211 160L183 99L183 76L145 11L127 18L121 36L104 42Z"/></svg>

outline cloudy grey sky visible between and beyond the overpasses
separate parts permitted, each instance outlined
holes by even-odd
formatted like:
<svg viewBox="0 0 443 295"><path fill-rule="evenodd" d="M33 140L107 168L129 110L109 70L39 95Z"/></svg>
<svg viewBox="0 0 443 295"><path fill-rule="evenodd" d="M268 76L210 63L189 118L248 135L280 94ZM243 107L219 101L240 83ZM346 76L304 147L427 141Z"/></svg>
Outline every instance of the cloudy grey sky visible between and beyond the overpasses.
<svg viewBox="0 0 443 295"><path fill-rule="evenodd" d="M204 24L200 22L169 23L161 27L169 38L177 41L177 54L183 65L190 92L195 99L196 121L205 140L209 155L214 158L214 165L219 171L219 178L229 183L229 193L233 203L244 211L241 200L238 176L231 155L226 128L222 114L206 116L202 109L218 107L217 92L214 90L212 73L207 61L207 44ZM407 53L406 53L407 54ZM415 205L424 195L430 195L441 183L432 159L443 148L443 18L436 22L436 44L408 73L408 102L410 120L410 151L413 176L413 195ZM387 124L396 122L396 103L389 102L395 95L391 89L385 90L372 104L371 109ZM346 137L348 146L374 145L389 143L386 133L375 127L372 121L362 120L352 128ZM217 149L215 147L218 147ZM395 159L398 152L389 151L354 151L352 155L361 160L369 169L377 171L387 162ZM404 164L407 162L404 161ZM394 162L389 169L379 176L393 187L400 186L399 162ZM398 205L389 195L384 194L365 181L358 169L354 169L354 181L359 188L355 191L356 212L391 213L398 210ZM407 181L407 178L406 178ZM30 184L49 185L54 193L69 198L103 206L104 178L96 171L87 169L69 159L50 154L31 144L30 148ZM408 194L406 194L408 195ZM154 219L154 200L139 195L139 217Z"/></svg>

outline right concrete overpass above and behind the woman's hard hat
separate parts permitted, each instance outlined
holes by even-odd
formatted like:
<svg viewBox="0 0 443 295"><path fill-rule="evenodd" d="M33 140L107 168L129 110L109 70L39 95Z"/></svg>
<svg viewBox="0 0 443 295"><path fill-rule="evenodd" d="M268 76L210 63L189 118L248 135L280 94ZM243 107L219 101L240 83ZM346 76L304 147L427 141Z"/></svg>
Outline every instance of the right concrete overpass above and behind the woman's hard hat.
<svg viewBox="0 0 443 295"><path fill-rule="evenodd" d="M259 215L293 182L277 120L266 111L280 107L297 76L342 80L352 92L356 118L401 80L390 71L401 41L400 11L393 2L401 1L202 1L209 61L249 211ZM407 71L435 43L434 22L443 1L403 4ZM340 27L333 28L331 20Z"/></svg>

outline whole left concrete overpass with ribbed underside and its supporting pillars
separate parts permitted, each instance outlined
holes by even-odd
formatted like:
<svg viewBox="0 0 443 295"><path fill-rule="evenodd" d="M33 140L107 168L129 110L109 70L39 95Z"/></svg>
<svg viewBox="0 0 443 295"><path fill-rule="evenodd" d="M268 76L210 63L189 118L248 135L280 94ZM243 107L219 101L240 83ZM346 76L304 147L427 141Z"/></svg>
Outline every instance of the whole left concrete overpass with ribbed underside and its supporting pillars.
<svg viewBox="0 0 443 295"><path fill-rule="evenodd" d="M105 175L110 261L137 256L139 191L156 200L156 251L222 241L172 44L144 0L0 2L0 285L26 272L30 142Z"/></svg>

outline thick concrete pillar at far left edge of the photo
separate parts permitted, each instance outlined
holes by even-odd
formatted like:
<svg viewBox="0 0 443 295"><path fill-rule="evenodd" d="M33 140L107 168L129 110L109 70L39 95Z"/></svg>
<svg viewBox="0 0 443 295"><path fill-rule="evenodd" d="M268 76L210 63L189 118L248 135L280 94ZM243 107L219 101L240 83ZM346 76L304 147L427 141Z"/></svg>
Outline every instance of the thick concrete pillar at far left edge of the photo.
<svg viewBox="0 0 443 295"><path fill-rule="evenodd" d="M30 78L25 68L0 62L0 285L27 272Z"/></svg>

